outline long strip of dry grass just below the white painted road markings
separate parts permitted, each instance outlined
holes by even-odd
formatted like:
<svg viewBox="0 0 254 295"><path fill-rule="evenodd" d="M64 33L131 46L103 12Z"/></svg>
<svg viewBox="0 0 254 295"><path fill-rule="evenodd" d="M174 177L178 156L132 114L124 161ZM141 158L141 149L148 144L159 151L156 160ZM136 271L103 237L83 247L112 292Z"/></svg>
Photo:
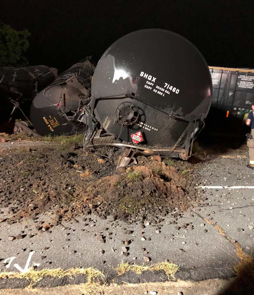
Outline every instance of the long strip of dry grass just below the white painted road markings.
<svg viewBox="0 0 254 295"><path fill-rule="evenodd" d="M51 278L63 278L65 276L68 276L72 278L73 276L77 276L80 274L86 276L87 282L90 282L90 283L93 282L98 277L104 277L101 271L93 267L71 268L68 270L55 268L55 269L43 269L41 271L36 271L34 267L32 266L30 270L25 273L2 272L0 273L0 278L6 278L7 276L9 279L12 279L12 278L26 279L30 281L30 287L32 287L34 283L41 281L42 278L46 276L50 276Z"/></svg>

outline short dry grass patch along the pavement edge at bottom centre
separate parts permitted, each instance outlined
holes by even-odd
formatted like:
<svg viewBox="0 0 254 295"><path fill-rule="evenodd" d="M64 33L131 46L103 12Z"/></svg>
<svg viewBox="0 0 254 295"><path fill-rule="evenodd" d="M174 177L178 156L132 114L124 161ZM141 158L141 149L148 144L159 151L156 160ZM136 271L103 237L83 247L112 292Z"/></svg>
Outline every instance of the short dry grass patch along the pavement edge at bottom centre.
<svg viewBox="0 0 254 295"><path fill-rule="evenodd" d="M133 271L137 274L141 274L144 271L164 271L165 274L168 276L168 279L175 278L174 274L178 271L179 266L174 264L174 263L169 263L169 262L159 262L156 264L151 264L150 266L147 266L143 264L142 266L136 265L136 264L129 264L129 263L124 263L122 261L115 270L118 272L118 276L122 276L124 273L128 271Z"/></svg>

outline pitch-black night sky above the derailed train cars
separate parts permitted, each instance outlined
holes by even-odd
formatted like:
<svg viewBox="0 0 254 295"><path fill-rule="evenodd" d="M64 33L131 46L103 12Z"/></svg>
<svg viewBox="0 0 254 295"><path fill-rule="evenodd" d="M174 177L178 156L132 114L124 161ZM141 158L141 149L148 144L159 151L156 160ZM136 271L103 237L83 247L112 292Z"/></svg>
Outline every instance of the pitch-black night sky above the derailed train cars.
<svg viewBox="0 0 254 295"><path fill-rule="evenodd" d="M104 51L127 33L161 28L191 41L208 65L254 68L254 0L59 1L4 0L0 20L27 29L29 65L64 71ZM155 53L159 54L158 52Z"/></svg>

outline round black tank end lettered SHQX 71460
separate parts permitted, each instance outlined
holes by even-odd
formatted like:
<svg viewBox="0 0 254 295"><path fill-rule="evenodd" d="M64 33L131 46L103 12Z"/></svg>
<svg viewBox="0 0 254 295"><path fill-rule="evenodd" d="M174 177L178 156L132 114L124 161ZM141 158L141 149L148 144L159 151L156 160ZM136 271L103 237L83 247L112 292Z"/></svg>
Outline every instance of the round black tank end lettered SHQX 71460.
<svg viewBox="0 0 254 295"><path fill-rule="evenodd" d="M91 94L96 118L108 133L120 133L116 111L127 101L137 106L139 117L122 128L120 139L132 142L131 135L141 131L143 144L171 146L188 125L171 118L171 112L206 115L211 90L207 63L191 42L173 32L147 29L120 38L106 50L96 66Z"/></svg>

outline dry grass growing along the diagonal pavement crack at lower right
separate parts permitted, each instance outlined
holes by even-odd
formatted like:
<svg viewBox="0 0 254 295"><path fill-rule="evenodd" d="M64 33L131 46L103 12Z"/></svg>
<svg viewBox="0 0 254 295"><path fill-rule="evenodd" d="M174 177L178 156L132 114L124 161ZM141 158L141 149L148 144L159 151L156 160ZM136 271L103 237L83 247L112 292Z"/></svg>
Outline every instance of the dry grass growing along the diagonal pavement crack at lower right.
<svg viewBox="0 0 254 295"><path fill-rule="evenodd" d="M236 255L241 260L238 264L236 264L234 266L234 270L235 270L236 274L242 275L242 274L246 273L246 275L252 276L254 278L254 259L253 259L253 257L246 254L242 250L241 246L237 242L233 241L228 235L226 235L224 230L220 226L216 225L215 223L213 223L207 219L204 219L204 220L207 223L212 224L212 226L214 226L223 237L226 237L231 243L233 243L235 245Z"/></svg>

